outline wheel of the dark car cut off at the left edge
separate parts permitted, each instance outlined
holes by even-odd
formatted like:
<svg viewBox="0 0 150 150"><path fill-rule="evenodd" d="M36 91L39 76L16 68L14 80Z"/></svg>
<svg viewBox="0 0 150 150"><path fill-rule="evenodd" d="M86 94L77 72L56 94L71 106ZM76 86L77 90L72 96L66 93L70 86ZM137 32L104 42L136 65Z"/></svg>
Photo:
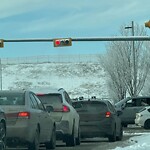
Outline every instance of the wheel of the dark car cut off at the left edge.
<svg viewBox="0 0 150 150"><path fill-rule="evenodd" d="M6 129L4 123L0 123L0 150L6 147Z"/></svg>

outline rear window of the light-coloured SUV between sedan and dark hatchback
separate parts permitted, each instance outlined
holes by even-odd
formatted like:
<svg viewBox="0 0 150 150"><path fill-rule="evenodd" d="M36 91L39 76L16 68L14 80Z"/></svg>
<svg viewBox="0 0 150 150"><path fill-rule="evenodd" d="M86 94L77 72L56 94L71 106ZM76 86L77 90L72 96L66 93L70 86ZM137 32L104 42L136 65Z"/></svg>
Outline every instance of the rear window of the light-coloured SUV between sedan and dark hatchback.
<svg viewBox="0 0 150 150"><path fill-rule="evenodd" d="M43 104L57 105L62 103L61 94L37 94L37 96L43 102Z"/></svg>

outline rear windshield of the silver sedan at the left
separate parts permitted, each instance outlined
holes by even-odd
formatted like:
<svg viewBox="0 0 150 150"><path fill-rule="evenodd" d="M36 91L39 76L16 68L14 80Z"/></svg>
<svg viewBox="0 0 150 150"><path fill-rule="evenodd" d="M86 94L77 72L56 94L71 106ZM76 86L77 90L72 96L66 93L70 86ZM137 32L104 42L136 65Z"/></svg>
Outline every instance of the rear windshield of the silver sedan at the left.
<svg viewBox="0 0 150 150"><path fill-rule="evenodd" d="M0 105L25 105L23 93L1 93Z"/></svg>

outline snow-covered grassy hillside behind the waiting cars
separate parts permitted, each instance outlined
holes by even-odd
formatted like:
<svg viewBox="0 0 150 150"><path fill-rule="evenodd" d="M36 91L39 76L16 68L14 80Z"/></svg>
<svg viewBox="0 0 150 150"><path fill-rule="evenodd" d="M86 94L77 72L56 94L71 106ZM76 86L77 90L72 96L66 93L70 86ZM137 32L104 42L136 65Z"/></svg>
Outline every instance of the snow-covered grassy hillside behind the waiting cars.
<svg viewBox="0 0 150 150"><path fill-rule="evenodd" d="M98 63L2 65L2 89L63 87L72 98L109 97L107 75Z"/></svg>

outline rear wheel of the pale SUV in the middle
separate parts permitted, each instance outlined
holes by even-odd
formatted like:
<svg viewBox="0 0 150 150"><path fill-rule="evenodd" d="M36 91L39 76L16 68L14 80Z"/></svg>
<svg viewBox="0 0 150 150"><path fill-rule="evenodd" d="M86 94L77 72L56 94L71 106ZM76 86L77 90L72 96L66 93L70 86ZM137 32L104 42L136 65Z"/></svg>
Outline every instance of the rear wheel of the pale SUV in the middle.
<svg viewBox="0 0 150 150"><path fill-rule="evenodd" d="M72 134L68 135L66 138L66 146L75 146L76 145L76 138L74 135L74 127L72 129Z"/></svg>

